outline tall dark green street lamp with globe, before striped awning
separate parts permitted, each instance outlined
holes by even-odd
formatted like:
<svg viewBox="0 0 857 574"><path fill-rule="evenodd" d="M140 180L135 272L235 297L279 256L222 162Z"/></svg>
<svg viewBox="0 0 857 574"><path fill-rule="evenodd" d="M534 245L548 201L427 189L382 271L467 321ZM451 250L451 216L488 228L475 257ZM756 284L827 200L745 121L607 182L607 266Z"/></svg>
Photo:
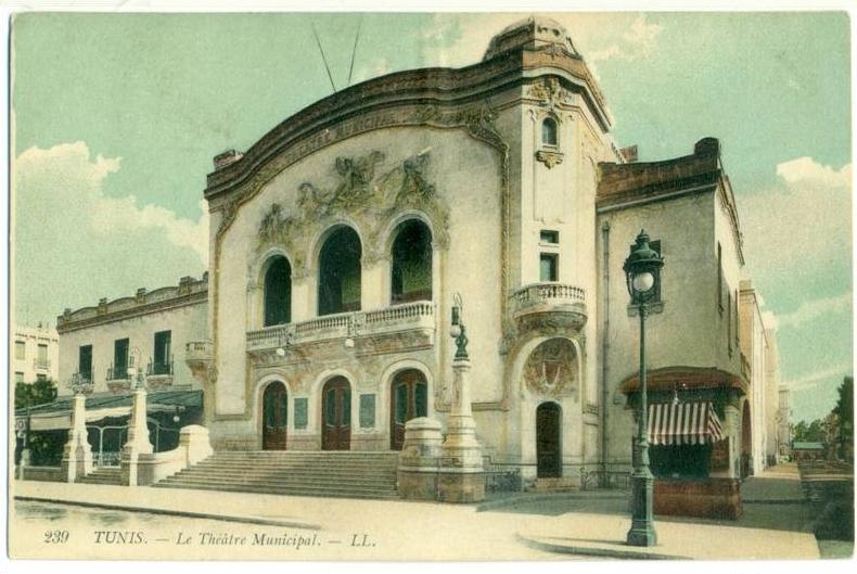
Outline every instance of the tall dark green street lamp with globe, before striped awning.
<svg viewBox="0 0 857 574"><path fill-rule="evenodd" d="M645 314L649 305L661 302L661 268L664 259L649 245L649 235L640 231L631 245L623 269L628 282L631 305L640 315L640 413L637 418L637 456L634 457L631 473L631 528L627 544L630 546L654 546L657 534L652 518L654 477L649 469L649 433L645 388Z"/></svg>

